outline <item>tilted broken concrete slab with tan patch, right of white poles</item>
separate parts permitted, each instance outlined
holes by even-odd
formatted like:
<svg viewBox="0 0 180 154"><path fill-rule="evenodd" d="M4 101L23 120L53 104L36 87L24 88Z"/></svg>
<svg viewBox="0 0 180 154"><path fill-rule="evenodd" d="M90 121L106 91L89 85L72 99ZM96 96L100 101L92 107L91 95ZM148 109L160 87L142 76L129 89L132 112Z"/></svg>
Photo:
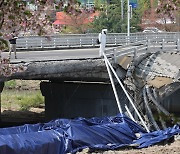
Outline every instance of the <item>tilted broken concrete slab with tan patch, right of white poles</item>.
<svg viewBox="0 0 180 154"><path fill-rule="evenodd" d="M130 63L127 70L127 72L129 72L127 73L127 78L133 76L133 78L136 78L135 82L137 82L137 80L141 80L142 84L149 84L155 88L161 88L164 85L179 82L178 74L180 74L180 66L174 66L173 62L168 62L167 66L167 63L165 63L163 57L163 62L159 62L161 56L164 56L162 54L166 53L168 54L167 56L169 56L169 52L156 52L151 54L147 53L146 55L133 59L133 63ZM177 54L177 52L175 51L174 54ZM171 55L173 55L172 52ZM159 64L156 67L153 67L157 62ZM128 76L128 74L130 75Z"/></svg>

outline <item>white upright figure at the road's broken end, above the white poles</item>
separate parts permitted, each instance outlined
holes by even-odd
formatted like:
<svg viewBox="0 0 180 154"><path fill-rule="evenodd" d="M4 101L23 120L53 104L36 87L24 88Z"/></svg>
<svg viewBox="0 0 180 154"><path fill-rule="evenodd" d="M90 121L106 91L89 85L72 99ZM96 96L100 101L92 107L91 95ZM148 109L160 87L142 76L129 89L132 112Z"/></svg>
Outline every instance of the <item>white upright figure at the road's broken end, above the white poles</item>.
<svg viewBox="0 0 180 154"><path fill-rule="evenodd" d="M105 50L105 46L106 46L106 33L107 33L107 29L103 29L101 33L99 33L99 43L100 43L100 49L99 49L99 56L102 57L104 50Z"/></svg>

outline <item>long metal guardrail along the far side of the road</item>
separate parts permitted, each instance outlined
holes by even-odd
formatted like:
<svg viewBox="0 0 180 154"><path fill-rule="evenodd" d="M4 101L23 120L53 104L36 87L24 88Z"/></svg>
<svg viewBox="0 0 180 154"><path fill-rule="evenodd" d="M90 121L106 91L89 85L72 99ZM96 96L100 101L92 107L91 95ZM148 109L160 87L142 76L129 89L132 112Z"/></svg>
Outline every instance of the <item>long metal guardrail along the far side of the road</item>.
<svg viewBox="0 0 180 154"><path fill-rule="evenodd" d="M71 34L54 36L29 36L17 39L17 49L47 49L47 48L71 48L71 47L96 47L98 34ZM107 34L107 46L121 46L148 39L176 39L180 33L126 33Z"/></svg>

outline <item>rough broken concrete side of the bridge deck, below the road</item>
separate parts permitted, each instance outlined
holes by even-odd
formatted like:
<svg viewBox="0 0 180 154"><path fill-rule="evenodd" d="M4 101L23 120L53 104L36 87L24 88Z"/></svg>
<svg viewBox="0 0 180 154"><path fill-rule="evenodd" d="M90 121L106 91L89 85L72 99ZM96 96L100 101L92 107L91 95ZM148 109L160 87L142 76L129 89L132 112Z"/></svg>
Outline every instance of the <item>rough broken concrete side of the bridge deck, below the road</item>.
<svg viewBox="0 0 180 154"><path fill-rule="evenodd" d="M112 59L110 61L114 67L117 66ZM9 76L2 76L0 82L13 79L109 81L104 59L101 58L12 62L11 65L22 65L26 69Z"/></svg>

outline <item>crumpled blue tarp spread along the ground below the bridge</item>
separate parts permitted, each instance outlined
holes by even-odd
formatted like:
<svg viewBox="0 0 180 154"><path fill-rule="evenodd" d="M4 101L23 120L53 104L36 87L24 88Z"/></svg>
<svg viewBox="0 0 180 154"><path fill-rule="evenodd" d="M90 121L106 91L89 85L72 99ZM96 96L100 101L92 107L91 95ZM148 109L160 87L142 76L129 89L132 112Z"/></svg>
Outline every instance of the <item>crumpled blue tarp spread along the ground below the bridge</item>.
<svg viewBox="0 0 180 154"><path fill-rule="evenodd" d="M135 133L141 137L136 138ZM180 127L147 133L127 116L57 119L0 129L0 153L63 154L84 148L116 149L130 144L148 147L180 133Z"/></svg>

